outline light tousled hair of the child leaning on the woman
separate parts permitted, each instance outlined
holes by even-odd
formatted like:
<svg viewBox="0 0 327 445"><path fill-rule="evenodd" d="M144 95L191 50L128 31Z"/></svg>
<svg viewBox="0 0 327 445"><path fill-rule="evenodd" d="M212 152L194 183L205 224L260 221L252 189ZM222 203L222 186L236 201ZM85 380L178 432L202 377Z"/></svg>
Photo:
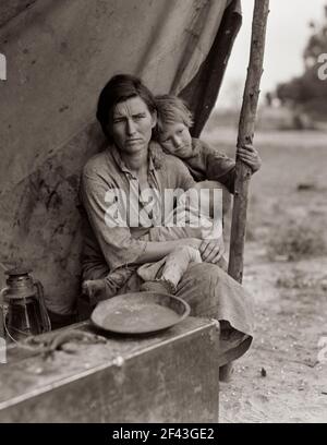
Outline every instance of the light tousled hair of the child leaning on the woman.
<svg viewBox="0 0 327 445"><path fill-rule="evenodd" d="M164 125L182 122L187 128L193 125L193 116L186 104L178 96L164 94L155 97L158 113L157 131L161 132Z"/></svg>

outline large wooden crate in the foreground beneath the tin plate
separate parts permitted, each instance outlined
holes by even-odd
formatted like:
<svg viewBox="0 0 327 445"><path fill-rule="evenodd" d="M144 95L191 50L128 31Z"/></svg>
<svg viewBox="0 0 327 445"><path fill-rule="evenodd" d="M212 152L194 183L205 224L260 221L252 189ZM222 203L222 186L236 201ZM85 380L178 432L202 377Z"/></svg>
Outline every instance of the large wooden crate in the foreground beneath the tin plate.
<svg viewBox="0 0 327 445"><path fill-rule="evenodd" d="M153 336L106 337L47 360L10 350L0 422L218 421L216 323L189 317Z"/></svg>

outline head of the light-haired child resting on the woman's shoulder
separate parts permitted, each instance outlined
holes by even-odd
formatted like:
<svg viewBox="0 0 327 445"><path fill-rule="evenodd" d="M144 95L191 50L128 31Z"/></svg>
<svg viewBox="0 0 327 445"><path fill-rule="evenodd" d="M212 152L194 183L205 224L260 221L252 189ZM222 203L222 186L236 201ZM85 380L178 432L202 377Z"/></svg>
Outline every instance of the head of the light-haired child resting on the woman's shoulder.
<svg viewBox="0 0 327 445"><path fill-rule="evenodd" d="M190 127L193 124L192 112L177 96L156 96L158 123L156 137L166 152L180 158L192 154Z"/></svg>

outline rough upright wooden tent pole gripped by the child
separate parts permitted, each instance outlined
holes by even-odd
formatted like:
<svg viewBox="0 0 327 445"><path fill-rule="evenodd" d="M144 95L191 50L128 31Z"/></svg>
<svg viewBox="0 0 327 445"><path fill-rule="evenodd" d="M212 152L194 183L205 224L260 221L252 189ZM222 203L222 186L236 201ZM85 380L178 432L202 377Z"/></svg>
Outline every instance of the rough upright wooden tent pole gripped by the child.
<svg viewBox="0 0 327 445"><path fill-rule="evenodd" d="M268 13L269 0L255 0L252 22L250 63L247 68L247 76L240 116L238 147L245 144L252 144L253 142L254 123L259 96L259 83L263 74ZM237 158L235 171L235 190L228 273L237 281L242 282L247 193L251 168Z"/></svg>

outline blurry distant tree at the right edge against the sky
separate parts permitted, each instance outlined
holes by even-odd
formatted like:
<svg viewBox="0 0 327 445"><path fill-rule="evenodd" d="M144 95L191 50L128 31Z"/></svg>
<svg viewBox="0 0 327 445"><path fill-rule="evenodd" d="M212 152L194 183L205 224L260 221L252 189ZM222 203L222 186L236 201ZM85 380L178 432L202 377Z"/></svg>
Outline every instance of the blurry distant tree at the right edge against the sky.
<svg viewBox="0 0 327 445"><path fill-rule="evenodd" d="M327 81L318 77L318 57L327 53L327 4L322 25L310 23L312 35L303 51L304 72L290 82L279 84L276 95L282 104L307 112L315 119L327 119Z"/></svg>

